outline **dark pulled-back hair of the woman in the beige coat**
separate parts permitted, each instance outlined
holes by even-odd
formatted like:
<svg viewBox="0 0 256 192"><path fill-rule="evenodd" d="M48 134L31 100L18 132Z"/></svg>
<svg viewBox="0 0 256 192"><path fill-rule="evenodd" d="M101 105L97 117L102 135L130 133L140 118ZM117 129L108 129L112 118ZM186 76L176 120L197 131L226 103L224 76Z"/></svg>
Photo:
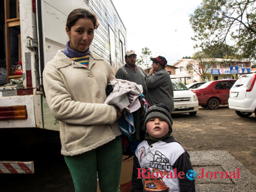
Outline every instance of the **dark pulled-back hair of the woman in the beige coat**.
<svg viewBox="0 0 256 192"><path fill-rule="evenodd" d="M99 26L98 18L95 14L90 12L89 10L86 10L85 8L77 8L71 13L69 13L69 16L67 17L67 23L66 27L71 30L72 26L75 25L75 22L77 22L79 19L90 19L93 22L94 29L97 29Z"/></svg>

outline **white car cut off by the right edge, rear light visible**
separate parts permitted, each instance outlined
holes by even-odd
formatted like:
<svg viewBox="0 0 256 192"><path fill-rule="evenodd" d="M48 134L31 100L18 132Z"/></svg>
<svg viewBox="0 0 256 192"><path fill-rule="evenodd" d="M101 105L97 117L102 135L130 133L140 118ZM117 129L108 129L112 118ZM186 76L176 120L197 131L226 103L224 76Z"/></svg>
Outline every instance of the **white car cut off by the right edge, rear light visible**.
<svg viewBox="0 0 256 192"><path fill-rule="evenodd" d="M255 73L241 75L230 89L228 107L235 110L242 118L256 112L255 80Z"/></svg>

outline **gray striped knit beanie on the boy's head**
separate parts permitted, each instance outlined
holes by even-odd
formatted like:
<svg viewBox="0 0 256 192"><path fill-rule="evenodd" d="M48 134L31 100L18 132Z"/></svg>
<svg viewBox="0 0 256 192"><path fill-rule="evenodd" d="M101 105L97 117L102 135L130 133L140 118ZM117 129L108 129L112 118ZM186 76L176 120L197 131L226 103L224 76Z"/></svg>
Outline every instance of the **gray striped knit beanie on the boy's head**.
<svg viewBox="0 0 256 192"><path fill-rule="evenodd" d="M165 122L169 125L170 133L172 133L172 117L170 116L169 110L167 107L162 105L155 105L149 107L149 109L146 111L144 115L144 130L146 131L146 123L149 121L149 119L152 118L161 118L164 119Z"/></svg>

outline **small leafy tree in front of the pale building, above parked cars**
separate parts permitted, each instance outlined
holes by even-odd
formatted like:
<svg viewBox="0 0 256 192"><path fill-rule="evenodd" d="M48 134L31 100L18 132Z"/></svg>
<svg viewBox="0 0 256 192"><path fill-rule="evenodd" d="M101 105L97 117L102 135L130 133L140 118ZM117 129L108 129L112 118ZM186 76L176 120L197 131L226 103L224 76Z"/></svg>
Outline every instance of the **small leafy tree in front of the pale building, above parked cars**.
<svg viewBox="0 0 256 192"><path fill-rule="evenodd" d="M206 77L205 73L207 73L207 70L212 68L213 65L217 65L216 59L209 59L208 55L199 51L193 54L192 61L186 65L186 70L189 74L198 74L201 79L204 80Z"/></svg>

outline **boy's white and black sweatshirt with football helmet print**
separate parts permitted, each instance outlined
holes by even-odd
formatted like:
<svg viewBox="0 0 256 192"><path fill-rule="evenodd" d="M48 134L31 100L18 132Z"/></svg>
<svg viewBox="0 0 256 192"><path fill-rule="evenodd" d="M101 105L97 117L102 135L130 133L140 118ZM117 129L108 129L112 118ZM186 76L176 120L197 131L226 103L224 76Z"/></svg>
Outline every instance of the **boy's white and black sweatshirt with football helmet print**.
<svg viewBox="0 0 256 192"><path fill-rule="evenodd" d="M138 173L143 172L142 168L146 169L146 172L158 172L159 174L154 173L154 177L158 175L158 178L169 186L169 191L195 191L195 180L190 181L186 176L188 170L192 170L189 154L173 136L155 143L144 140L139 144L134 155L133 192L143 191L146 180L138 178ZM184 175L179 178L180 172ZM143 174L140 176L143 177ZM148 174L145 173L145 176Z"/></svg>

